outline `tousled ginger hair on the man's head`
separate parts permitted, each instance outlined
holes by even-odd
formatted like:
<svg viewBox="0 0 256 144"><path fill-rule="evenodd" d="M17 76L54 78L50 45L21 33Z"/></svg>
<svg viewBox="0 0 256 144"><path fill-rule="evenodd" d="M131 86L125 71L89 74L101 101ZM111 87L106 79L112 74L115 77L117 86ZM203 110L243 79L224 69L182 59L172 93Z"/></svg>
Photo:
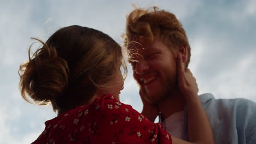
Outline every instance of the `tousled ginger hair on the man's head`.
<svg viewBox="0 0 256 144"><path fill-rule="evenodd" d="M123 34L124 47L129 48L133 42L153 43L160 38L172 51L180 45L188 48L188 61L190 61L190 46L187 35L176 16L157 7L133 10L126 20L126 32ZM172 49L173 48L173 49Z"/></svg>

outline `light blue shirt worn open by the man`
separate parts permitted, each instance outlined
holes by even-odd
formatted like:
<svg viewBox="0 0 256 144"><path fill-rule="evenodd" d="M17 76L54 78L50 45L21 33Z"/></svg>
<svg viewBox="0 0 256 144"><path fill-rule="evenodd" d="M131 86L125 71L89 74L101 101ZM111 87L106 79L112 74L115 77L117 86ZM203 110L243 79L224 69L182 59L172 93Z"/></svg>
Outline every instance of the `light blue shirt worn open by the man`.
<svg viewBox="0 0 256 144"><path fill-rule="evenodd" d="M256 103L241 98L215 99L210 93L199 97L212 125L216 144L256 144ZM184 110L184 135L188 133L187 124L187 111Z"/></svg>

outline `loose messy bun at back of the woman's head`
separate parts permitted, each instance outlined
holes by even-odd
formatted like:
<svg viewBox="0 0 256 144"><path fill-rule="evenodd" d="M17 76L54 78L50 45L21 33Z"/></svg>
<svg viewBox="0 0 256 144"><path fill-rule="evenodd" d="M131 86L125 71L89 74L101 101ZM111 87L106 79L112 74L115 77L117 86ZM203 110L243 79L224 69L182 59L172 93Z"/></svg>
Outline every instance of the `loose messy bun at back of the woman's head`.
<svg viewBox="0 0 256 144"><path fill-rule="evenodd" d="M43 47L34 52L32 57L29 56L28 62L20 65L21 95L29 103L32 102L27 96L38 105L47 105L55 101L67 86L68 65L64 59L57 56L55 47L36 40L42 43Z"/></svg>

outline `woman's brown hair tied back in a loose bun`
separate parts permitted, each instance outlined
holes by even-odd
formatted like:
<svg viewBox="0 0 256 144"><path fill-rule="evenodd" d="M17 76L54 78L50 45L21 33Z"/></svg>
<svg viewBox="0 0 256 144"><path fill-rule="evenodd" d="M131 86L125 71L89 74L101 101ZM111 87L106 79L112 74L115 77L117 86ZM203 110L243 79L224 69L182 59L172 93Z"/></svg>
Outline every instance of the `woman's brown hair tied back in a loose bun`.
<svg viewBox="0 0 256 144"><path fill-rule="evenodd" d="M97 88L107 89L120 66L127 69L123 53L107 34L96 29L69 26L59 29L20 65L20 91L29 103L53 105L59 113L88 101ZM120 81L123 82L123 81Z"/></svg>

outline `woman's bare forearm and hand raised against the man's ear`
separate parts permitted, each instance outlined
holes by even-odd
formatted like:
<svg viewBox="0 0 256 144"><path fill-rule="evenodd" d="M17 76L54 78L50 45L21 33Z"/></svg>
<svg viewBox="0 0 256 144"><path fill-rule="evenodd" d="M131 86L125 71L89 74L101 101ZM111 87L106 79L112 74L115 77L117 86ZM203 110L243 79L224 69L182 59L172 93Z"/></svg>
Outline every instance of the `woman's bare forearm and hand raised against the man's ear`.
<svg viewBox="0 0 256 144"><path fill-rule="evenodd" d="M177 58L179 88L184 95L188 109L188 134L191 143L214 143L212 127L197 95L199 89L195 77L185 68L181 55ZM188 142L188 143L190 143ZM173 137L173 143L184 143Z"/></svg>

